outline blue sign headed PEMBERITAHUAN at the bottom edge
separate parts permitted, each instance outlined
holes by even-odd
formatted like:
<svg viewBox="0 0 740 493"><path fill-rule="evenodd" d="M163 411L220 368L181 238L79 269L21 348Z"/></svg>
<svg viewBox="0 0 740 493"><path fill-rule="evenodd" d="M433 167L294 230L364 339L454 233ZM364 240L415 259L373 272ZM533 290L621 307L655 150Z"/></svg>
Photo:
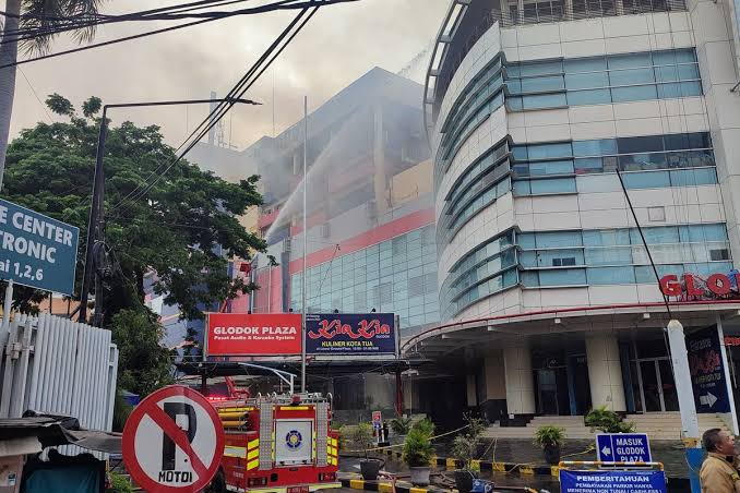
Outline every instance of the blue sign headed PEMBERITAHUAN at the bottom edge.
<svg viewBox="0 0 740 493"><path fill-rule="evenodd" d="M569 471L560 470L561 493L640 492L666 493L664 471Z"/></svg>

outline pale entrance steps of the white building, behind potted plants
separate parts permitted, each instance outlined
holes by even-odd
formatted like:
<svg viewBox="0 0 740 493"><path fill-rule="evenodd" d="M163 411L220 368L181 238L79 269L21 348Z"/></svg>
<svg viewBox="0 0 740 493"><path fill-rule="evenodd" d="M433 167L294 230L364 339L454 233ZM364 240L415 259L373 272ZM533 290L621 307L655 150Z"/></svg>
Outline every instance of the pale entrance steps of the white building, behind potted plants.
<svg viewBox="0 0 740 493"><path fill-rule="evenodd" d="M647 433L651 441L681 440L681 416L678 412L628 414L625 421L633 421L635 431ZM501 426L494 423L486 429L484 437L532 440L537 429L546 424L565 429L566 440L594 440L594 433L583 423L583 416L539 416L529 421L526 426ZM699 414L700 434L711 428L729 431L717 414Z"/></svg>

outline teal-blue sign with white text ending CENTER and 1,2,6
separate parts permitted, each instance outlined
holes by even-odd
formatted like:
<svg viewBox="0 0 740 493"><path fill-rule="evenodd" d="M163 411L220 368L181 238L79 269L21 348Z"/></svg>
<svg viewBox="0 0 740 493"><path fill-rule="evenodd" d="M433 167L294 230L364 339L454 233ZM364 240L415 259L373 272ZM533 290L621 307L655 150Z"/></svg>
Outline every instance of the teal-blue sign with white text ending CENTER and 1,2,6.
<svg viewBox="0 0 740 493"><path fill-rule="evenodd" d="M0 279L74 293L80 229L0 199Z"/></svg>

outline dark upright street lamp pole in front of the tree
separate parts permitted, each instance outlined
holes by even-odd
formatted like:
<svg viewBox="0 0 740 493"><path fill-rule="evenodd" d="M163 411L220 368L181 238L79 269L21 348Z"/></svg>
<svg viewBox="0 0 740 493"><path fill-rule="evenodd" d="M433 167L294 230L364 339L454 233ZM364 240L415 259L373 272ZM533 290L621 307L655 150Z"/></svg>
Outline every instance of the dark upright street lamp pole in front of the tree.
<svg viewBox="0 0 740 493"><path fill-rule="evenodd" d="M103 156L105 154L105 141L107 134L107 118L108 106L103 107L103 116L100 118L100 131L97 137L97 152L95 153L95 177L93 179L93 200L89 205L89 219L87 220L87 245L85 248L85 273L82 278L82 292L80 294L80 317L79 322L87 322L87 298L89 296L89 287L93 284L93 275L97 270L97 262L94 260L95 243L100 238L98 231L102 218L98 216L103 212ZM96 285L97 285L96 278ZM96 286L97 288L97 286ZM102 290L102 289L100 289ZM95 313L99 313L100 293L95 292Z"/></svg>

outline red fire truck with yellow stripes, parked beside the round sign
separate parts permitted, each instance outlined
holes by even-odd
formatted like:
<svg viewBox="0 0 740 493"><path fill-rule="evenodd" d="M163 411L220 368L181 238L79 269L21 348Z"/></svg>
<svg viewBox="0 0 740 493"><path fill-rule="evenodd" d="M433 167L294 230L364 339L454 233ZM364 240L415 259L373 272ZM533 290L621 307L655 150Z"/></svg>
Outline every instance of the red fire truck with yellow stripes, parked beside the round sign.
<svg viewBox="0 0 740 493"><path fill-rule="evenodd" d="M320 394L214 401L224 425L224 458L211 491L309 493L341 488L338 433Z"/></svg>

